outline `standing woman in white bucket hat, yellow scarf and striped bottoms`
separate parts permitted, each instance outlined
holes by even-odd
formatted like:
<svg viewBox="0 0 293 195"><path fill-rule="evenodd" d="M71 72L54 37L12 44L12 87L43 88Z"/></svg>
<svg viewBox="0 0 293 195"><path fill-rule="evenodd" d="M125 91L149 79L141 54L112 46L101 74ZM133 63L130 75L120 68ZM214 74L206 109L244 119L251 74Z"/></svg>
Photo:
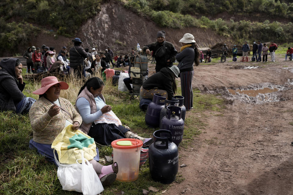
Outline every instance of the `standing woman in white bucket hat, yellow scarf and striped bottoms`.
<svg viewBox="0 0 293 195"><path fill-rule="evenodd" d="M193 91L192 91L192 77L194 75L193 65L199 65L199 51L194 41L192 34L186 33L183 38L179 40L182 43L180 53L176 55L176 60L179 62L178 68L180 70L179 76L181 81L181 93L184 97L184 106L186 111L193 108Z"/></svg>

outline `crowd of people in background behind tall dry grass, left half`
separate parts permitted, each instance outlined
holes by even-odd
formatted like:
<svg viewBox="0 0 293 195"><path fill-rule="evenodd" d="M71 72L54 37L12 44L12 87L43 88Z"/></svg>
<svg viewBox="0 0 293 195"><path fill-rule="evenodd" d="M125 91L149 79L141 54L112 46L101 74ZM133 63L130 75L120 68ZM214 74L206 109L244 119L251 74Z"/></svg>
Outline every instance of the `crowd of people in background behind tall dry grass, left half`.
<svg viewBox="0 0 293 195"><path fill-rule="evenodd" d="M105 49L105 52L98 53L95 48L92 48L90 52L89 48L81 47L82 42L79 38L73 39L72 42L74 45L69 52L63 46L58 54L54 47L46 45L42 45L42 51L41 48L35 46L28 47L23 55L27 62L27 73L59 71L60 74L67 75L71 70L80 76L89 77L95 72L102 73L105 69L110 68L110 63L112 68L129 66L130 57L135 55L133 48L129 55L118 56L118 54L114 55L110 46Z"/></svg>

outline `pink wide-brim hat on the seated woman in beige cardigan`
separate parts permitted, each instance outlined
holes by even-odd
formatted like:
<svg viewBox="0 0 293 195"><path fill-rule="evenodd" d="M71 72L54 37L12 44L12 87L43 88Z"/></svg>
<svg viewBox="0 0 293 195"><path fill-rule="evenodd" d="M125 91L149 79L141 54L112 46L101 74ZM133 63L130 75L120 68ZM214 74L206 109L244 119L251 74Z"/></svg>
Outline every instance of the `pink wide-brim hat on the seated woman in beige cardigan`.
<svg viewBox="0 0 293 195"><path fill-rule="evenodd" d="M68 84L63 81L58 81L56 76L47 76L41 80L41 88L33 91L33 94L44 94L50 87L59 83L60 89L68 89Z"/></svg>

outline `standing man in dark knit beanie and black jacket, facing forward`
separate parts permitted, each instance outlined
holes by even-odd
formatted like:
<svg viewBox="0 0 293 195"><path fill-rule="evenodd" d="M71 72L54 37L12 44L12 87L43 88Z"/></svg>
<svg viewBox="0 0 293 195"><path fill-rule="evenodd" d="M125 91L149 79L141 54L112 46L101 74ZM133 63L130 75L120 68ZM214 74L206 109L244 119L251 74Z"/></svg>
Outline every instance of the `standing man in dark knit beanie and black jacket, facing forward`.
<svg viewBox="0 0 293 195"><path fill-rule="evenodd" d="M154 51L156 59L156 73L164 67L171 67L175 61L175 55L178 53L174 45L165 41L166 32L160 30L157 32L157 42L153 42L143 46L143 51L150 55L150 51Z"/></svg>

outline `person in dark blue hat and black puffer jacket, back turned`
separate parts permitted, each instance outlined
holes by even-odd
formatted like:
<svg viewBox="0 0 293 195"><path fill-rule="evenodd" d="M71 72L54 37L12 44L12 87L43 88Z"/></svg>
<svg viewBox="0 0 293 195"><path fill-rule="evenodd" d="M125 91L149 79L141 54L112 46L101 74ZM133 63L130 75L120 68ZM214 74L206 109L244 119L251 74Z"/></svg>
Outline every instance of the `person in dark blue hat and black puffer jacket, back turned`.
<svg viewBox="0 0 293 195"><path fill-rule="evenodd" d="M84 59L86 59L88 55L80 46L83 43L80 38L75 38L71 41L74 42L74 46L69 50L70 68L73 69L73 72L78 78L81 78L82 75L85 76Z"/></svg>

